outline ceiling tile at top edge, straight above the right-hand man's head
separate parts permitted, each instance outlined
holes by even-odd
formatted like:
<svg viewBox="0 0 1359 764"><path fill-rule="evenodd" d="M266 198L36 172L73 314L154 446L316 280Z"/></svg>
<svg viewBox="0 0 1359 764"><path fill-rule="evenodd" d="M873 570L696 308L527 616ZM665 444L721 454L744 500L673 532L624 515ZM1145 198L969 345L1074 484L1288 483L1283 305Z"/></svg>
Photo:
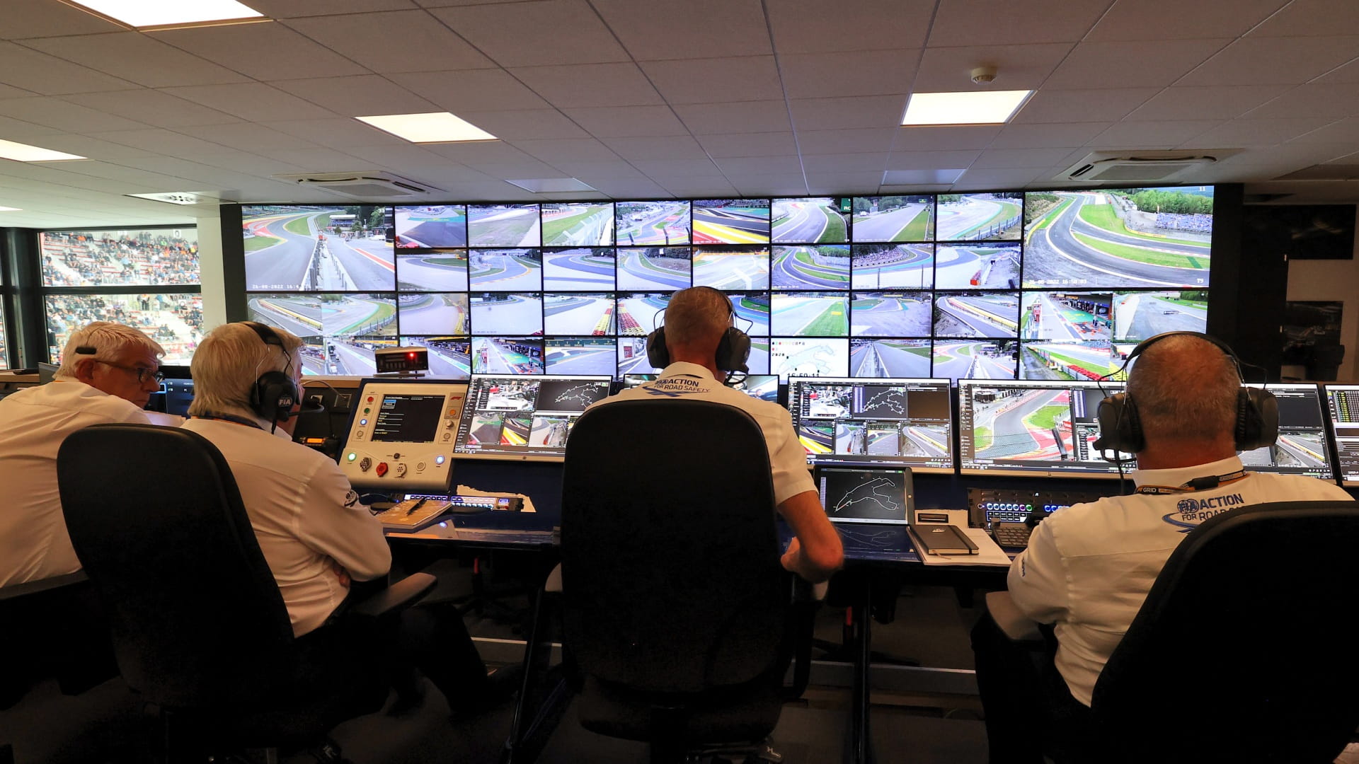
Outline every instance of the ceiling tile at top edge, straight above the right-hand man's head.
<svg viewBox="0 0 1359 764"><path fill-rule="evenodd" d="M1288 0L1233 0L1230 10L1218 3L1184 0L1118 0L1090 30L1090 41L1192 39L1239 37L1286 5Z"/></svg>

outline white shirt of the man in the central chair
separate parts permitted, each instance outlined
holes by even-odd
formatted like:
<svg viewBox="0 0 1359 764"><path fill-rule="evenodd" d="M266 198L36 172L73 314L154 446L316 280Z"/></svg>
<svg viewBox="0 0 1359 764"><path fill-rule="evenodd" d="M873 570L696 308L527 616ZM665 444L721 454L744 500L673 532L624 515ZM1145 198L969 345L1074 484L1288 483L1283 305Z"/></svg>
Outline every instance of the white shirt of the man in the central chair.
<svg viewBox="0 0 1359 764"><path fill-rule="evenodd" d="M696 363L675 362L665 367L660 375L643 382L631 390L610 396L594 405L607 405L614 401L713 401L735 406L752 416L765 436L769 449L769 466L773 469L773 500L784 500L805 491L815 491L807 472L807 451L792 430L792 416L779 404L752 398L750 396L718 382L712 372Z"/></svg>

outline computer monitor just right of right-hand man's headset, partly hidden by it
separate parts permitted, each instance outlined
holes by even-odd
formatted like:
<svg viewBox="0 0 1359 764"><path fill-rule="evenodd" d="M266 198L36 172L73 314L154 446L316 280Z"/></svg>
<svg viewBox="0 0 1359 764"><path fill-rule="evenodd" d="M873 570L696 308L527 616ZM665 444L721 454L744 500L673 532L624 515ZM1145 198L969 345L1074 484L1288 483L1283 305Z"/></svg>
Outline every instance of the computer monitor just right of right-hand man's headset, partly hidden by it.
<svg viewBox="0 0 1359 764"><path fill-rule="evenodd" d="M1279 472L1335 480L1321 394L1316 383L1250 385L1265 387L1279 401L1279 439L1273 446L1241 451L1252 472Z"/></svg>

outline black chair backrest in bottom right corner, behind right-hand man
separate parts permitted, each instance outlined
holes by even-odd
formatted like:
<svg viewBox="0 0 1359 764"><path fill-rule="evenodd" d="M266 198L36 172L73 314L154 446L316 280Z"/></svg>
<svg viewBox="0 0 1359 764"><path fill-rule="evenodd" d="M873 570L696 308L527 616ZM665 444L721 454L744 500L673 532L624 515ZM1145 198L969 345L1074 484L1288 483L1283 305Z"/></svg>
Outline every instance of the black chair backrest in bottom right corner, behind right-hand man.
<svg viewBox="0 0 1359 764"><path fill-rule="evenodd" d="M1359 725L1359 504L1210 518L1176 548L1091 710L1108 761L1332 761Z"/></svg>

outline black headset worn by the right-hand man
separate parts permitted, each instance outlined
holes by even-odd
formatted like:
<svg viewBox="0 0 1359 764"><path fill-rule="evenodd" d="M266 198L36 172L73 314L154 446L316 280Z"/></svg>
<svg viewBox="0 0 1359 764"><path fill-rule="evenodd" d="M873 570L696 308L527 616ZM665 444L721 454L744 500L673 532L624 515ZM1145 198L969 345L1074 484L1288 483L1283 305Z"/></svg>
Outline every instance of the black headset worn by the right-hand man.
<svg viewBox="0 0 1359 764"><path fill-rule="evenodd" d="M1123 363L1118 371L1127 368L1132 363L1132 359L1147 352L1147 348L1151 345L1166 337L1176 336L1199 337L1216 345L1237 367L1237 379L1242 382L1241 390L1237 393L1237 426L1233 430L1237 450L1250 451L1272 446L1279 438L1279 400L1264 387L1246 387L1245 379L1241 377L1241 359L1237 358L1237 353L1226 343L1216 337L1210 337L1199 332L1165 332L1154 337L1147 337L1137 347L1132 348L1132 352L1128 353L1128 360ZM1136 454L1147 447L1147 438L1142 432L1142 419L1137 415L1137 406L1133 405L1128 393L1117 393L1099 401L1095 417L1099 420L1099 438L1095 439L1094 447L1101 453L1123 451Z"/></svg>

